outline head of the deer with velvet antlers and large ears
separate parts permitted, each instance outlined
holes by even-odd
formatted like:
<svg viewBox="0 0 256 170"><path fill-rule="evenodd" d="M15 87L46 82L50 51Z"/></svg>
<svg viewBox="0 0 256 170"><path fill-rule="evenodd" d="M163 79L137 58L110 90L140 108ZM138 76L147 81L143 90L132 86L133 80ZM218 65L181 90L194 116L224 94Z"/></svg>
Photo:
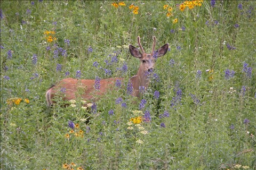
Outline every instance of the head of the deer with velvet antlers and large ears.
<svg viewBox="0 0 256 170"><path fill-rule="evenodd" d="M130 53L132 56L140 59L140 69L142 69L143 72L151 71L154 69L154 63L155 63L156 57L162 57L163 55L165 55L169 48L169 44L167 43L163 45L161 48L159 48L156 51L156 53L154 53L155 46L156 46L156 37L154 36L152 52L147 54L145 53L144 49L140 44L140 37L138 36L137 39L138 39L138 44L140 46L142 53L139 51L138 48L135 48L134 46L129 45Z"/></svg>

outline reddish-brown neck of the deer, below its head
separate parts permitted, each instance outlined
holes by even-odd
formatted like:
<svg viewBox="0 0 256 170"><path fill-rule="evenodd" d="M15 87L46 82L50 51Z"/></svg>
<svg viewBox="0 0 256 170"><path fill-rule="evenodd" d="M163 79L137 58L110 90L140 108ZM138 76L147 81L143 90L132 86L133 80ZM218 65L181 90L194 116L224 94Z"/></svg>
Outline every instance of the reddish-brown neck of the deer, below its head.
<svg viewBox="0 0 256 170"><path fill-rule="evenodd" d="M149 84L149 77L145 74L145 71L139 67L138 73L130 78L133 87L133 96L139 97L139 88L140 86L144 86L145 89Z"/></svg>

